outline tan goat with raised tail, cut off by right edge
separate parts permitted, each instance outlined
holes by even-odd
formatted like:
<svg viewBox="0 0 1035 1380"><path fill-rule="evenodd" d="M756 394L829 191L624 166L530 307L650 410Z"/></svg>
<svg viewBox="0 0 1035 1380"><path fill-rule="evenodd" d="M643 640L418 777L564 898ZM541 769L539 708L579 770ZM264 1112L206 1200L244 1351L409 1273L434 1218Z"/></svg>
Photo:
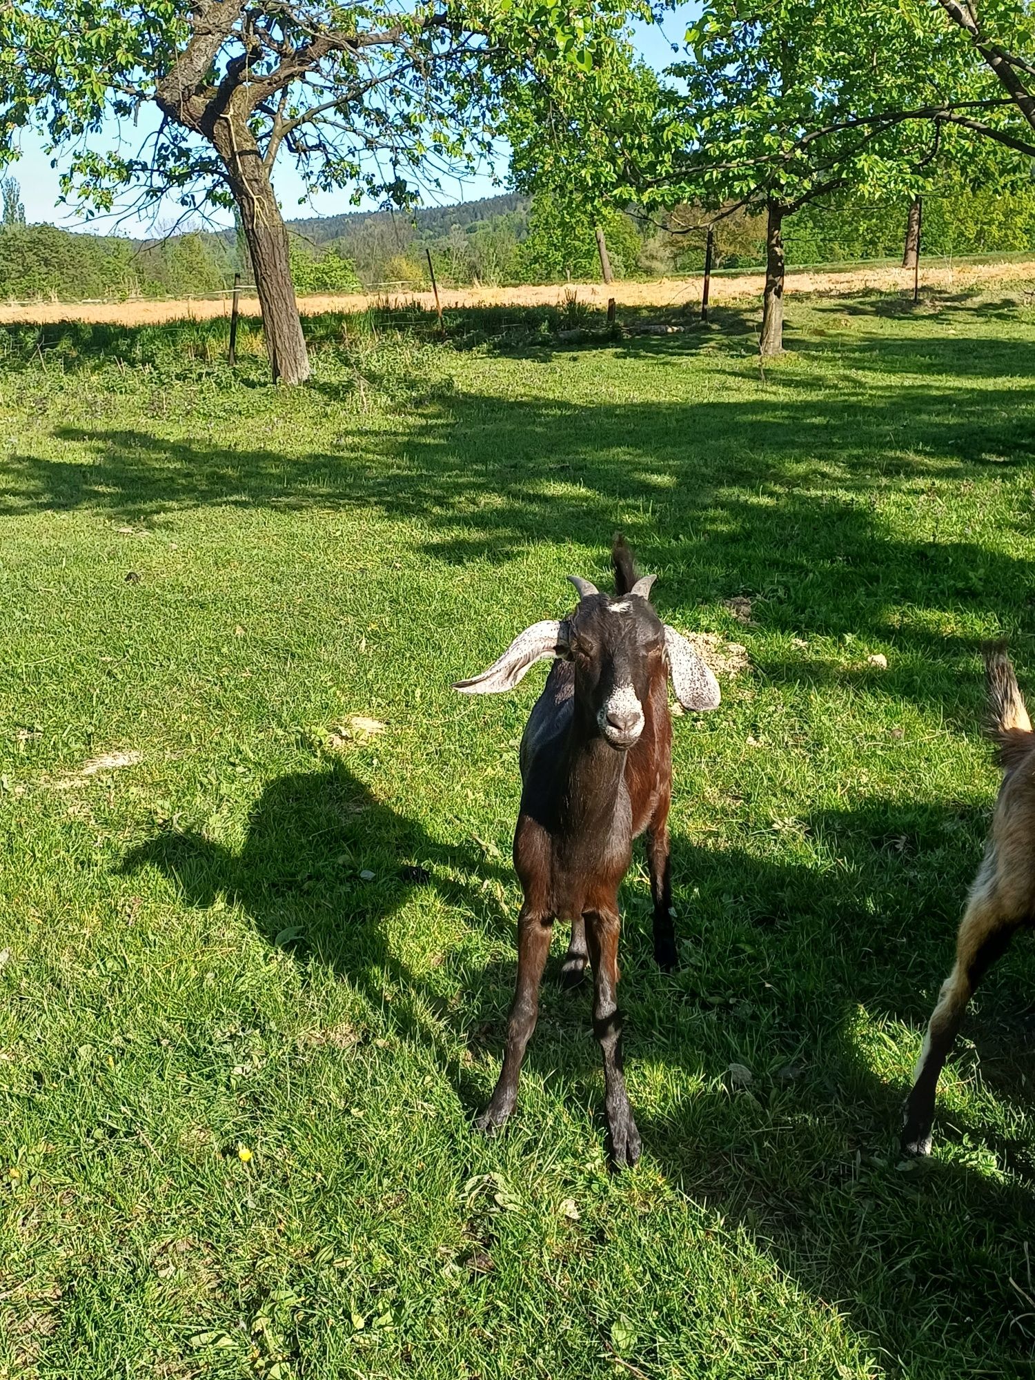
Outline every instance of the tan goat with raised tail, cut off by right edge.
<svg viewBox="0 0 1035 1380"><path fill-rule="evenodd" d="M1023 925L1035 923L1035 733L1002 643L983 649L988 680L988 736L1003 781L984 861L970 887L956 936L956 962L931 1013L905 1100L901 1148L929 1155L938 1075L977 984Z"/></svg>

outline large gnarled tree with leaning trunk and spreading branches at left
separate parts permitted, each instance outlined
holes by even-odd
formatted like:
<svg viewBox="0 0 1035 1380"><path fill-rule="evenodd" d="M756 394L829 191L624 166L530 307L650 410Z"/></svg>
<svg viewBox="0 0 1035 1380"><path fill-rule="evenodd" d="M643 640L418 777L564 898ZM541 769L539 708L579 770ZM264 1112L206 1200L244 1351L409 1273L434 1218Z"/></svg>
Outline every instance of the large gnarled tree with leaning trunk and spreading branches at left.
<svg viewBox="0 0 1035 1380"><path fill-rule="evenodd" d="M523 69L585 63L599 6L25 0L18 12L40 119L70 157L66 192L99 208L127 186L138 206L168 195L188 214L235 206L273 377L294 384L309 362L277 157L294 157L309 189L407 204L421 170L490 148L502 88ZM146 102L161 119L141 152L91 146L108 116L132 119Z"/></svg>

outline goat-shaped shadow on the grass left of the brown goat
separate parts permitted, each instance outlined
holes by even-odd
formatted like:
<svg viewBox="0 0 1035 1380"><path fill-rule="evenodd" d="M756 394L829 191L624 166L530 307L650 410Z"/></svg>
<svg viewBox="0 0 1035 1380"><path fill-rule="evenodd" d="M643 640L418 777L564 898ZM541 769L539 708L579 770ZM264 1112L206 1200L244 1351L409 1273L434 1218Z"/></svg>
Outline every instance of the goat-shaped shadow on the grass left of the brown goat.
<svg viewBox="0 0 1035 1380"><path fill-rule="evenodd" d="M502 937L508 920L498 887L484 882L509 874L484 849L443 846L334 759L266 785L240 851L192 829L166 828L132 847L121 871L148 865L170 876L188 905L237 904L270 945L302 967L324 965L374 1009L388 1002L399 1034L435 1049L468 1108L484 1097L442 1038L443 994L407 967L388 923L415 890L426 890L468 923Z"/></svg>

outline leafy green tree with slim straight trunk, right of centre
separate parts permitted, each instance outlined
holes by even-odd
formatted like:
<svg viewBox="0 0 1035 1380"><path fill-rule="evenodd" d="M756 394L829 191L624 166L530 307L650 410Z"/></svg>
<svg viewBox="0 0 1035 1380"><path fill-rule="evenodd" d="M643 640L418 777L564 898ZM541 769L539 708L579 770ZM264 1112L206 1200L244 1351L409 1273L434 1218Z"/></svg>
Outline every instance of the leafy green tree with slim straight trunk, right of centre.
<svg viewBox="0 0 1035 1380"><path fill-rule="evenodd" d="M690 26L694 61L671 69L682 90L661 106L672 152L657 185L697 192L719 214L765 207L763 355L782 348L787 218L847 190L916 195L948 156L943 112L984 108L973 65L948 40L931 30L918 41L908 7L883 0L777 0L747 14L711 0Z"/></svg>

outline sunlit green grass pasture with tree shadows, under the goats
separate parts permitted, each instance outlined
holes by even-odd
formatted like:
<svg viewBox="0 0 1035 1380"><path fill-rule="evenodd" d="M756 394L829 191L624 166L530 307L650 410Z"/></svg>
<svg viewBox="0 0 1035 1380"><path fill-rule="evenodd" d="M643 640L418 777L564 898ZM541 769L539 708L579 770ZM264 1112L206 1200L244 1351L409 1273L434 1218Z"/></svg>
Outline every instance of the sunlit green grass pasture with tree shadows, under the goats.
<svg viewBox="0 0 1035 1380"><path fill-rule="evenodd" d="M1027 941L931 1161L897 1129L996 789L983 638L1035 698L1035 310L789 312L765 378L733 309L315 320L298 392L219 323L4 338L3 1380L1032 1373ZM678 973L624 889L617 1177L560 926L472 1130L545 671L450 690L615 527L749 657L675 724Z"/></svg>

